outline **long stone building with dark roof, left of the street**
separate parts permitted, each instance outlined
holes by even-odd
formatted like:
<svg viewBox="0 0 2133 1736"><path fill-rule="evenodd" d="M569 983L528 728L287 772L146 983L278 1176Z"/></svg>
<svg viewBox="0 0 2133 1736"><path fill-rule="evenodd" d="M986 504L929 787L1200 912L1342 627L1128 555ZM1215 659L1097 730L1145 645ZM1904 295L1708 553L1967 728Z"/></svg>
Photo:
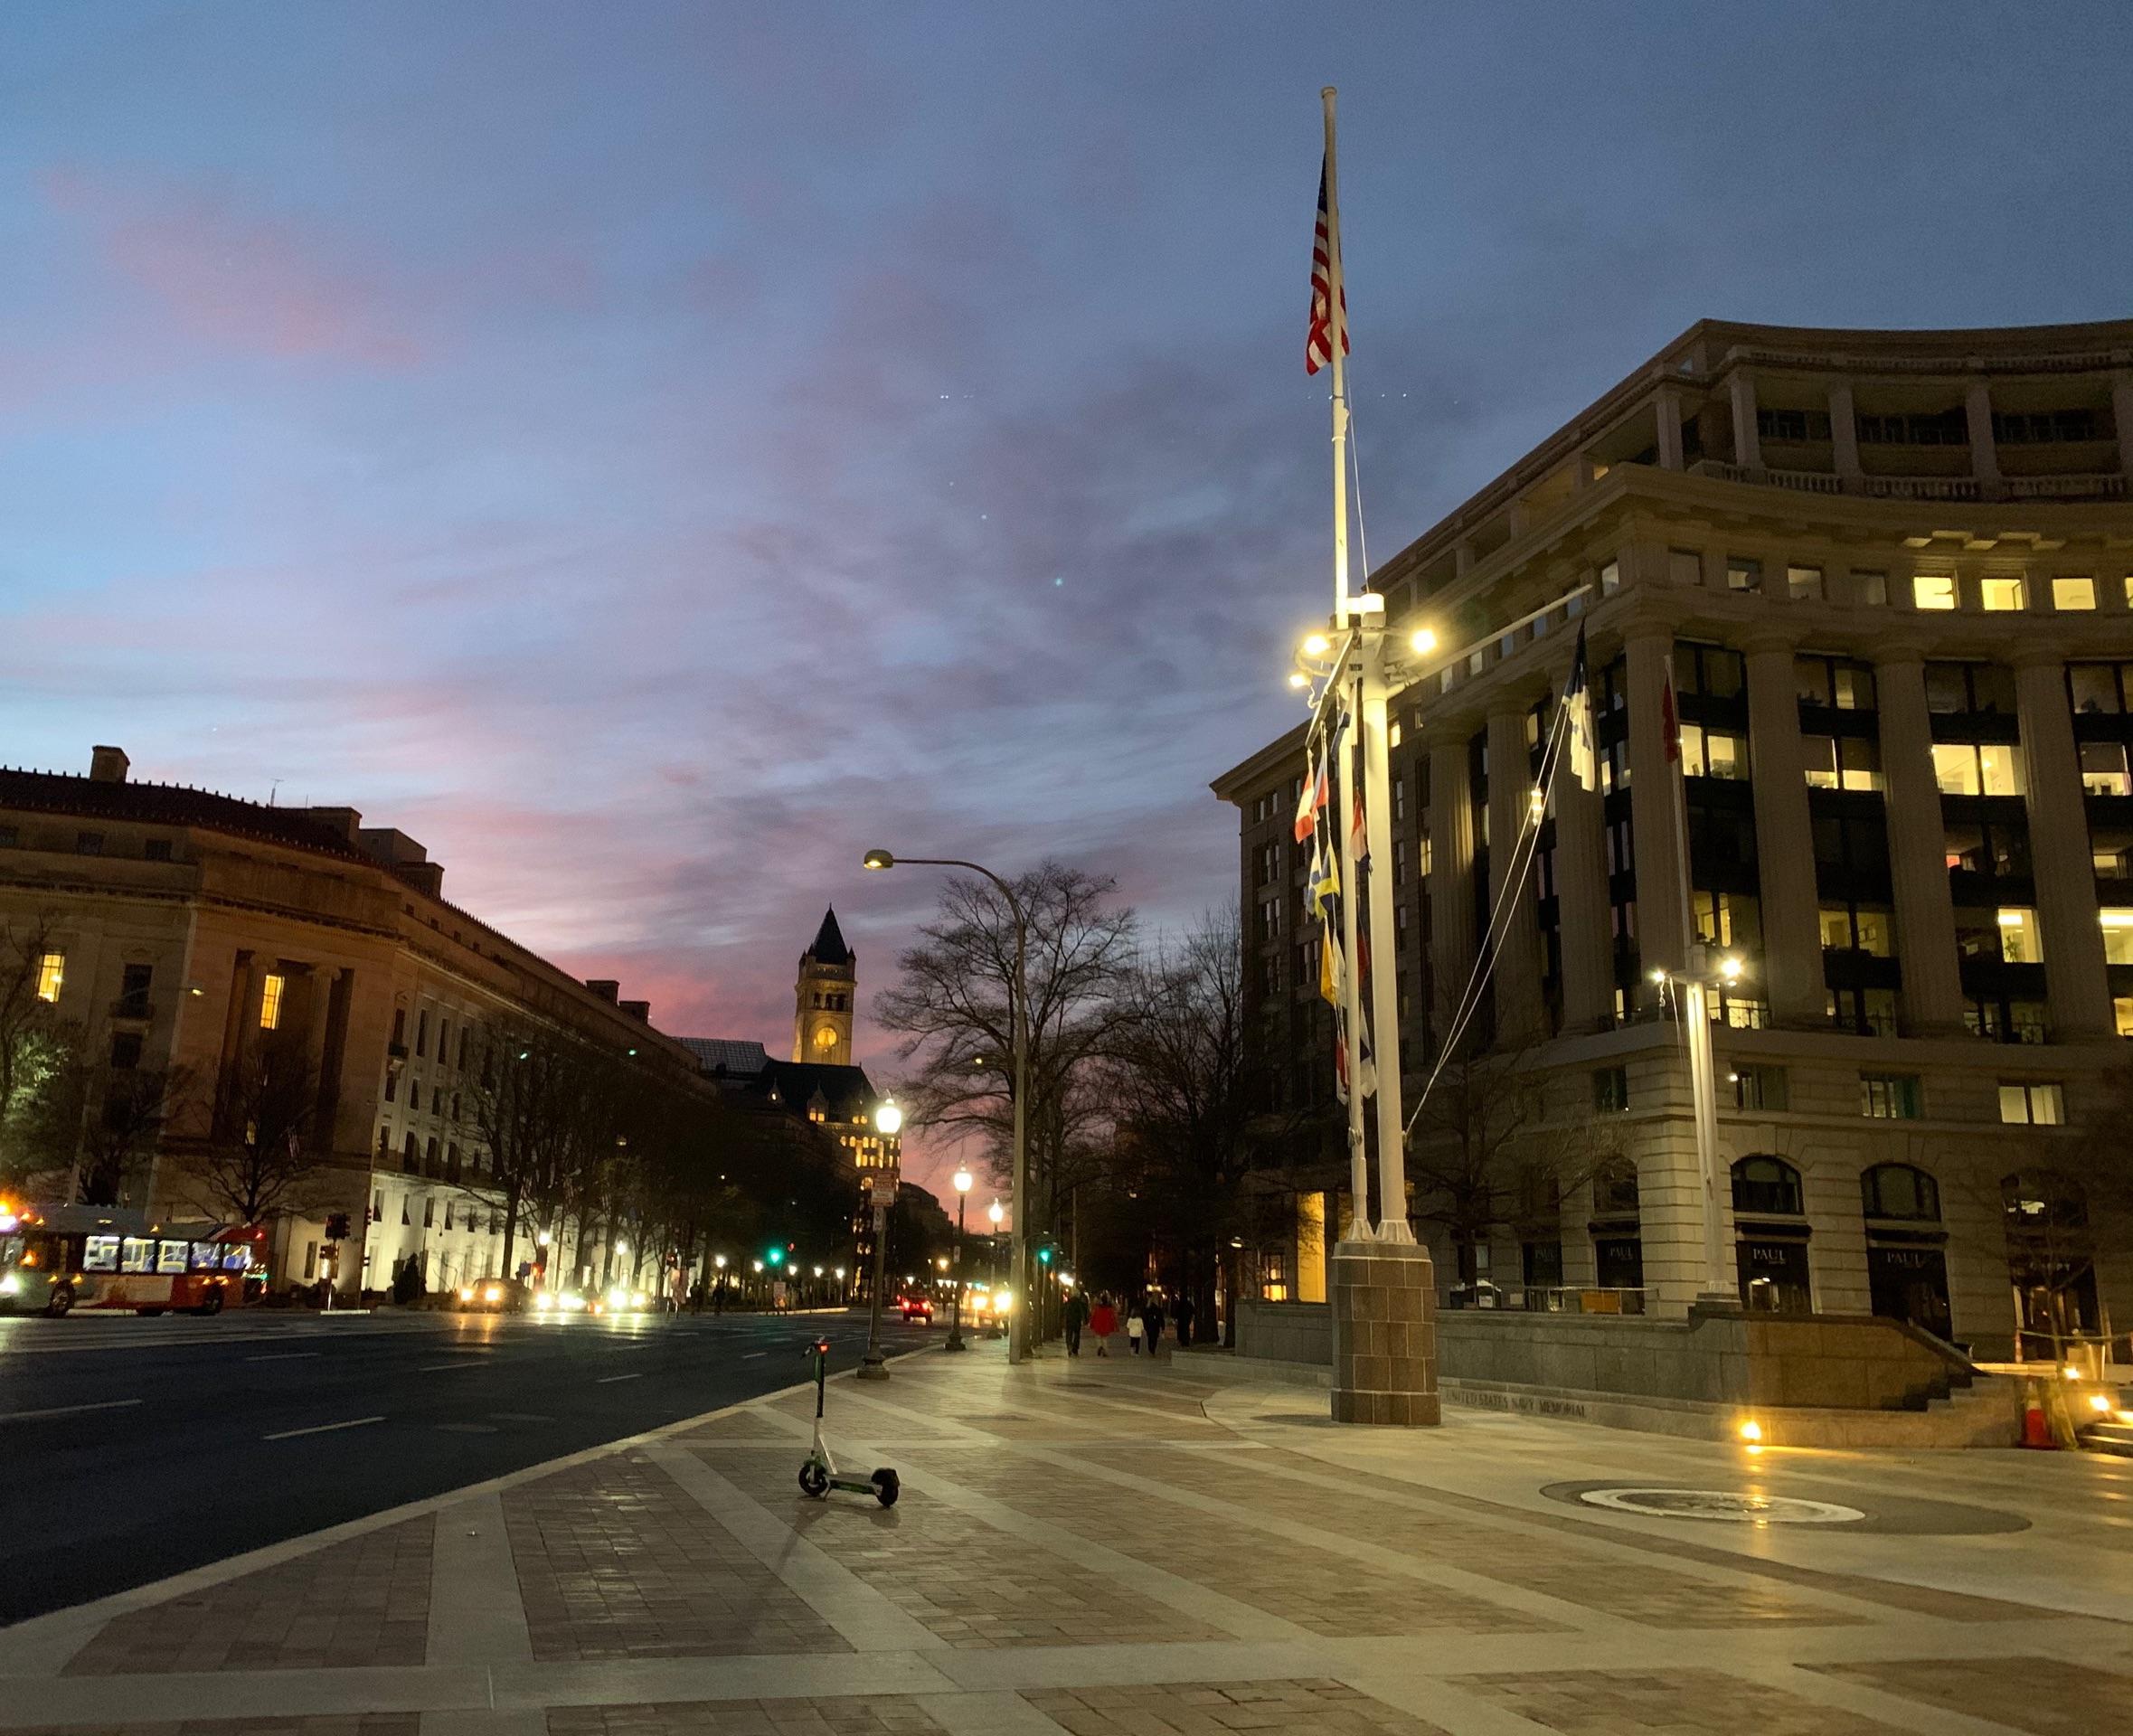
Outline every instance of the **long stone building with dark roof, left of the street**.
<svg viewBox="0 0 2133 1736"><path fill-rule="evenodd" d="M341 1290L382 1290L405 1260L433 1290L499 1271L503 1205L484 1188L471 1100L499 1030L567 1032L702 1079L619 983L576 981L448 904L442 864L407 834L363 825L354 808L141 783L111 746L87 776L0 770L0 964L30 936L38 994L81 1032L98 1090L124 1096L132 1075L190 1081L117 1173L75 1169L77 1194L228 1216L190 1162L207 1130L203 1083L269 1032L299 1056L311 1103L292 1137L318 1169L275 1213L275 1288L324 1275L333 1211L354 1231ZM70 1156L49 1152L36 1199L64 1194ZM531 1256L533 1226L520 1224L514 1260Z"/></svg>

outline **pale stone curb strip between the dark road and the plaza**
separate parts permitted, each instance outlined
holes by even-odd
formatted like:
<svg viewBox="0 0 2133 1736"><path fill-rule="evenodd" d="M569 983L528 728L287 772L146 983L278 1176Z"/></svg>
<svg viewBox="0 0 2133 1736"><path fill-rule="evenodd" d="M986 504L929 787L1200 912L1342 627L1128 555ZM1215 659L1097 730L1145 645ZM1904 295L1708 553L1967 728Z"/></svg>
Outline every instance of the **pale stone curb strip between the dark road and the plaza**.
<svg viewBox="0 0 2133 1736"><path fill-rule="evenodd" d="M855 1373L855 1369L843 1369L830 1376L830 1380L853 1380ZM721 1416L732 1416L753 1405L774 1403L776 1399L789 1399L796 1393L811 1393L813 1388L813 1380L800 1380L791 1386L779 1386L768 1393L757 1393L751 1399L738 1399L729 1405L700 1412L697 1416L661 1422L657 1429L646 1429L638 1435L625 1435L599 1446L584 1446L576 1452L565 1452L559 1459L544 1459L538 1465L525 1465L516 1472L506 1472L503 1476L448 1489L442 1495L424 1495L418 1501L403 1501L397 1508L367 1512L358 1518L343 1518L339 1525L328 1525L322 1531L305 1531L296 1538L284 1538L277 1544L260 1544L243 1555L226 1555L222 1561L207 1561L201 1568L188 1568L186 1572L171 1574L169 1578L149 1580L147 1585L137 1585L126 1591L113 1591L90 1604L75 1604L73 1608L51 1610L49 1614L17 1621L13 1627L0 1627L0 1683L13 1678L58 1676L66 1668L66 1661L107 1623L117 1617L132 1614L134 1610L164 1604L190 1591L207 1591L224 1580L254 1574L260 1568L279 1568L284 1561L294 1561L301 1555L311 1555L314 1550L348 1542L350 1538L365 1538L371 1531L382 1531L388 1525L401 1525L410 1518L420 1518L422 1514L444 1512L461 1501L482 1495L501 1495L506 1489L516 1489L523 1482L533 1482L538 1478L552 1476L555 1472L589 1465L595 1459L612 1459L619 1452L629 1452L653 1442L663 1442L672 1435L683 1435L689 1429L700 1429Z"/></svg>

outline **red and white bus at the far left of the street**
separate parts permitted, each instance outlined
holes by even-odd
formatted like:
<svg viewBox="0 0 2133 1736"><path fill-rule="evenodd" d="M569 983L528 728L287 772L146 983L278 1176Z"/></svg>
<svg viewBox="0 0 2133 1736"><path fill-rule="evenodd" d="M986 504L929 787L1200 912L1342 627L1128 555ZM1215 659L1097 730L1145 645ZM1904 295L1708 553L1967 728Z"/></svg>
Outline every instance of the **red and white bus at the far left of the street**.
<svg viewBox="0 0 2133 1736"><path fill-rule="evenodd" d="M0 1201L0 1312L220 1314L264 1282L267 1233L239 1224L162 1224L102 1205Z"/></svg>

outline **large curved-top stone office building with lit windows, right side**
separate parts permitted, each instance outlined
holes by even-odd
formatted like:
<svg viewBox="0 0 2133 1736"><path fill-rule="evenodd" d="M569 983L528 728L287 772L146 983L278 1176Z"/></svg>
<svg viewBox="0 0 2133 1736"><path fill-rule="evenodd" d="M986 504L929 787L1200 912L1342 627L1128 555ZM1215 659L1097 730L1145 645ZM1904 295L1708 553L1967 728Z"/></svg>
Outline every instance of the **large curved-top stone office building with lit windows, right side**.
<svg viewBox="0 0 2133 1736"><path fill-rule="evenodd" d="M1555 781L1474 1030L1544 1130L1615 1156L1506 1213L1474 1290L1681 1314L1702 1288L1689 1077L1653 981L1700 947L1743 966L1711 998L1749 1305L1901 1316L1979 1354L2054 1314L2133 1318L2082 1177L2133 1036L2129 478L2133 322L1702 322L1372 576L1395 629L1463 653L1395 708L1399 928L1376 968L1410 1107L1589 636L1600 787ZM1301 740L1214 789L1239 813L1271 1109L1303 1128L1263 1288L1312 1299L1346 1160L1312 1113L1331 1009L1290 840Z"/></svg>

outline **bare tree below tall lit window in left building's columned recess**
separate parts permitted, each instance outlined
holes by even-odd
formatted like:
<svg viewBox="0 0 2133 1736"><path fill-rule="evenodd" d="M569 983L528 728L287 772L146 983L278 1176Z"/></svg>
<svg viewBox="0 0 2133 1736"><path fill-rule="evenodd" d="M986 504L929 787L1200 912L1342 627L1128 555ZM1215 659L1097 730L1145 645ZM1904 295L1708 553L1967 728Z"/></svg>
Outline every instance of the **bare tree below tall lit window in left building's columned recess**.
<svg viewBox="0 0 2133 1736"><path fill-rule="evenodd" d="M316 1120L318 1068L296 1041L271 1036L215 1077L207 1139L186 1169L230 1222L305 1209L328 1158L311 1139Z"/></svg>

